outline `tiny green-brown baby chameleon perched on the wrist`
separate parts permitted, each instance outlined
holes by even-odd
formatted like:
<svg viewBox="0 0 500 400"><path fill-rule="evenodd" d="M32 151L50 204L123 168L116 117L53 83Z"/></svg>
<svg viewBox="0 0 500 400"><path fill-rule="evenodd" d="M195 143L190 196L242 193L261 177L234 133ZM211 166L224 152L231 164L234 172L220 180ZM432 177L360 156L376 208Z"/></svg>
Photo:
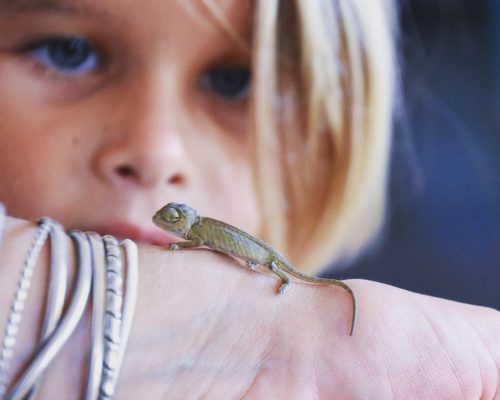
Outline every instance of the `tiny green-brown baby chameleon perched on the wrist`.
<svg viewBox="0 0 500 400"><path fill-rule="evenodd" d="M172 243L171 250L207 246L212 250L246 261L250 268L255 268L259 264L268 267L282 281L278 289L279 294L283 294L290 285L287 273L306 282L340 286L349 293L352 299L353 312L350 334L353 334L357 313L356 296L344 282L306 275L296 269L266 242L225 222L201 217L186 204L168 203L156 212L153 216L153 222L160 228L186 240L185 242Z"/></svg>

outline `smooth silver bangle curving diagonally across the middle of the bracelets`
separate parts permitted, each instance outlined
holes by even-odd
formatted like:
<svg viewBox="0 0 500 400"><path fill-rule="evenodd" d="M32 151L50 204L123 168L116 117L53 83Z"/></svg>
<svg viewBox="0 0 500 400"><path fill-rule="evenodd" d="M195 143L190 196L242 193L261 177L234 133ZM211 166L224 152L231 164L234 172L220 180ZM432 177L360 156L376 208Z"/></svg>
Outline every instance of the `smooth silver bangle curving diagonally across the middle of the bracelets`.
<svg viewBox="0 0 500 400"><path fill-rule="evenodd" d="M70 235L78 245L79 266L70 304L56 330L43 344L31 364L18 379L12 391L7 396L7 400L21 400L25 398L40 375L47 369L64 344L66 344L85 311L92 280L90 247L87 239L81 232L74 231Z"/></svg>

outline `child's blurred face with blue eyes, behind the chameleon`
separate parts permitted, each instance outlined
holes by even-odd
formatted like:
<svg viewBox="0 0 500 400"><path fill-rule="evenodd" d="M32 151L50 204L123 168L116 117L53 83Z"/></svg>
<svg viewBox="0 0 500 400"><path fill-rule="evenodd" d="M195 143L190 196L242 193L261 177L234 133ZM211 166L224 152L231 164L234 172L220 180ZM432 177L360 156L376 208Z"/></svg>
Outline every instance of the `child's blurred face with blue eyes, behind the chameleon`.
<svg viewBox="0 0 500 400"><path fill-rule="evenodd" d="M248 39L250 1L215 2ZM0 3L0 200L162 242L163 204L256 233L249 55L201 0Z"/></svg>

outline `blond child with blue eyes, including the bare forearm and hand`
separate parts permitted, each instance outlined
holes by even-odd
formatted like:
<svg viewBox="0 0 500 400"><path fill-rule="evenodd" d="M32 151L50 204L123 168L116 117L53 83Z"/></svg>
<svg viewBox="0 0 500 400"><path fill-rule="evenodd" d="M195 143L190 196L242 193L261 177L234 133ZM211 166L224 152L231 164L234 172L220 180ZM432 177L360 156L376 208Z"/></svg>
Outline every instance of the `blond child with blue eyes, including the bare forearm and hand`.
<svg viewBox="0 0 500 400"><path fill-rule="evenodd" d="M145 243L118 398L494 396L498 313L353 282L360 321L349 338L340 291L294 285L276 298L267 278L232 260L146 244L172 240L151 216L177 201L309 272L359 252L385 206L392 7L1 2L0 199L23 219ZM20 265L32 232L8 219L2 266ZM37 351L41 260L10 385ZM19 273L3 268L1 321ZM80 396L88 314L42 398ZM483 375L469 374L470 362Z"/></svg>

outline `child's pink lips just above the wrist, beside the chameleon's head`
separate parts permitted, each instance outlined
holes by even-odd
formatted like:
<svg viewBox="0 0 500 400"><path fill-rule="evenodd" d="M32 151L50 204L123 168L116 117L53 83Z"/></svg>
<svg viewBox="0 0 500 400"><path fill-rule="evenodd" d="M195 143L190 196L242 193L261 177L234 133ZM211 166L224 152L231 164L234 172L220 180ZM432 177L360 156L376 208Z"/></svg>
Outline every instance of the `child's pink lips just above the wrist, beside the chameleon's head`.
<svg viewBox="0 0 500 400"><path fill-rule="evenodd" d="M159 229L143 229L125 222L95 227L92 230L100 235L113 235L120 239L131 239L138 243L149 243L157 246L165 246L179 241L179 238Z"/></svg>

